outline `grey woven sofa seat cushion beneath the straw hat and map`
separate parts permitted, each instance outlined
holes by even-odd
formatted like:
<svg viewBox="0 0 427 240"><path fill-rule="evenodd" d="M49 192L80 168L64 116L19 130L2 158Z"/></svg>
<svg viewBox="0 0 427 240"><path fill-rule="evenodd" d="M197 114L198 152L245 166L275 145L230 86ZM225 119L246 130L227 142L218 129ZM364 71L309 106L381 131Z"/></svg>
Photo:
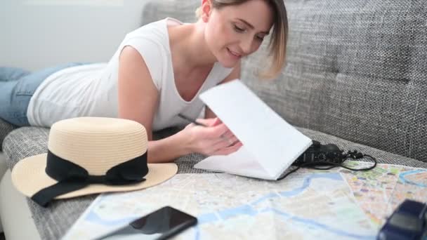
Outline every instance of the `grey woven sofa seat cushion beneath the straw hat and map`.
<svg viewBox="0 0 427 240"><path fill-rule="evenodd" d="M342 140L332 135L327 135L306 128L298 128L313 140L322 143L335 143L341 149L357 149L364 154L375 156L379 163L400 164L405 166L427 168L427 163L409 159L404 156L390 154L379 149L359 145L348 140ZM176 129L169 129L157 133L157 138L170 135ZM47 151L48 129L36 127L18 128L9 134L4 140L4 152L9 168L27 156L41 154ZM192 168L194 164L203 158L200 154L190 154L176 160L178 173L206 173L199 169ZM42 208L32 200L27 199L29 209L32 212L35 224L39 230L41 239L59 239L67 232L72 224L79 218L79 215L96 199L96 194L83 196L75 199L54 201L48 208Z"/></svg>

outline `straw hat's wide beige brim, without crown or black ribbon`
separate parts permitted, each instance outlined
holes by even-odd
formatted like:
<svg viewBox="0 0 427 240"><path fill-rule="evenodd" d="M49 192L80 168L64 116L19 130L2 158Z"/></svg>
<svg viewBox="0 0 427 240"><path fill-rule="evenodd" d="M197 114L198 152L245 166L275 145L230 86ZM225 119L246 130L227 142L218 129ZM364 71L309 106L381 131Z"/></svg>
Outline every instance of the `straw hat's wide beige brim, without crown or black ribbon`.
<svg viewBox="0 0 427 240"><path fill-rule="evenodd" d="M50 178L45 172L46 156L47 154L29 156L19 161L13 168L11 174L13 185L25 196L31 197L41 189L58 182ZM172 178L178 171L178 166L173 163L148 164L148 170L147 175L144 177L145 181L137 184L119 186L91 184L77 191L56 196L55 199L69 199L75 196L98 194L102 192L126 192L152 187Z"/></svg>

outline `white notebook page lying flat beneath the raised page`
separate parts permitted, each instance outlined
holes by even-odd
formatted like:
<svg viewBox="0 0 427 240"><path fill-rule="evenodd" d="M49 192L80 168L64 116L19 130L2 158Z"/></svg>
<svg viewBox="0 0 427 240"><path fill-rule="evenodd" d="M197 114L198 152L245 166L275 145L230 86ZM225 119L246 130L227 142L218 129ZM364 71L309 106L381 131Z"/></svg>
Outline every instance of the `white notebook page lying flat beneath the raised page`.
<svg viewBox="0 0 427 240"><path fill-rule="evenodd" d="M240 147L237 152L233 152L227 156L209 156L203 161L195 164L194 167L221 173L232 173L235 175L242 175L252 178L275 180L275 178L270 178L268 174L265 173L263 167L244 147Z"/></svg>

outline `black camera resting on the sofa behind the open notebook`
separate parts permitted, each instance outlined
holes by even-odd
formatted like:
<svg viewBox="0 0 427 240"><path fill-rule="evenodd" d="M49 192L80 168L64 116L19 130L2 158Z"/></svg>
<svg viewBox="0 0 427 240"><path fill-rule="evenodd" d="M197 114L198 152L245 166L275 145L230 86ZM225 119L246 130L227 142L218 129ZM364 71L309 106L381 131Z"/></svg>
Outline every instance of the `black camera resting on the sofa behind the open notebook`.
<svg viewBox="0 0 427 240"><path fill-rule="evenodd" d="M341 164L345 158L343 151L334 144L322 145L320 142L313 140L313 144L308 147L306 152L298 156L292 165L299 166L301 164L322 164L333 163Z"/></svg>

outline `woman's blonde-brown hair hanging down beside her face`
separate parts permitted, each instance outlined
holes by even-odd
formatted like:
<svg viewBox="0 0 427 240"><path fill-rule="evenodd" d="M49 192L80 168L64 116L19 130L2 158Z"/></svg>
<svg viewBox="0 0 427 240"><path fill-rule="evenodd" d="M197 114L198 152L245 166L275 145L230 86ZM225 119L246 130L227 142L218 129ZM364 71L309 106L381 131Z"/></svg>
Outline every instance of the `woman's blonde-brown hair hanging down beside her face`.
<svg viewBox="0 0 427 240"><path fill-rule="evenodd" d="M210 0L211 6L216 9L225 6L236 6L244 4L251 0ZM280 72L286 62L286 47L288 39L288 18L287 11L284 6L283 0L265 0L273 9L273 30L270 38L268 48L270 48L269 56L272 57L270 69L267 72L262 72L260 76L263 78L274 78ZM200 18L202 15L202 8L197 8L196 16Z"/></svg>

